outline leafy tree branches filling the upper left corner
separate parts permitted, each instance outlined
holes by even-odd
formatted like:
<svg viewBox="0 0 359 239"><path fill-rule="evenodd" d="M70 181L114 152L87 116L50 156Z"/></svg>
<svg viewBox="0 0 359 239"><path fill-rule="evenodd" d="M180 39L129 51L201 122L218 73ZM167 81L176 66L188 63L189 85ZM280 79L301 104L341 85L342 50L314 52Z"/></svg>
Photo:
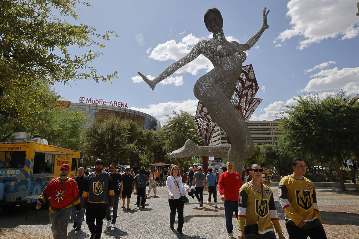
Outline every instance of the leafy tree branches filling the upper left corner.
<svg viewBox="0 0 359 239"><path fill-rule="evenodd" d="M36 125L43 106L59 99L42 86L66 84L78 79L112 81L117 72L97 75L90 66L101 52L89 46L105 47L96 38L108 40L113 32L97 33L78 20L79 0L2 0L0 1L0 111L20 125ZM114 35L114 37L116 37ZM82 56L71 56L70 46L86 48ZM31 106L31 107L29 107Z"/></svg>

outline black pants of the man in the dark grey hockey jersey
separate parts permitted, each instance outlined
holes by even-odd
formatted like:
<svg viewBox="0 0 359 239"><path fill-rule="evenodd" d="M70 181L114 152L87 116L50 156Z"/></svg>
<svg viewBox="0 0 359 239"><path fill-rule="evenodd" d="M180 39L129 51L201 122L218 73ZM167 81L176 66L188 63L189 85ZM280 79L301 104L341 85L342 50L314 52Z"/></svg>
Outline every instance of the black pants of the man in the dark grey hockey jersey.
<svg viewBox="0 0 359 239"><path fill-rule="evenodd" d="M86 223L91 233L96 234L95 239L101 238L102 220L106 216L106 204L92 204L88 203L86 210ZM96 224L95 224L96 220Z"/></svg>

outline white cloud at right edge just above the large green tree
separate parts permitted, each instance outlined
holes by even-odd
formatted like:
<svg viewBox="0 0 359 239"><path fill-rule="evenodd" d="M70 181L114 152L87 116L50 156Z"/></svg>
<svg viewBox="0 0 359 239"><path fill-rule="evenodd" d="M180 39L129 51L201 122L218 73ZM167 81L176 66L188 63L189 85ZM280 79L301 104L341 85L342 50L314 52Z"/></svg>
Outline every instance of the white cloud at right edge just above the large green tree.
<svg viewBox="0 0 359 239"><path fill-rule="evenodd" d="M311 78L313 79L301 92L343 89L347 90L349 94L358 93L356 89L358 89L359 84L359 67L341 70L335 67L311 75Z"/></svg>

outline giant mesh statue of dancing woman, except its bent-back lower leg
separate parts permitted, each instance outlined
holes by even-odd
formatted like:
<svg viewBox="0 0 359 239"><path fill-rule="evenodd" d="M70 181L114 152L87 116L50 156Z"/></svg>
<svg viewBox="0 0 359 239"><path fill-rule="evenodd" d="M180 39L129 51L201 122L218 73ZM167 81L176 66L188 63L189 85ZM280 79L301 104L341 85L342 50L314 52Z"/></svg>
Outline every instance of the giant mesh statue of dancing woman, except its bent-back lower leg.
<svg viewBox="0 0 359 239"><path fill-rule="evenodd" d="M194 86L194 94L206 106L208 113L222 129L225 130L232 144L228 150L228 160L237 162L236 171L241 173L244 153L254 154L254 145L247 124L241 113L232 105L230 98L236 89L237 79L242 72L242 63L246 60L246 53L258 41L267 24L266 8L263 11L263 25L245 44L236 41L228 42L223 33L223 18L216 8L208 9L204 15L207 29L213 33L210 40L198 42L191 51L180 60L168 66L154 80L138 72L152 90L160 81L172 75L185 64L196 59L200 54L207 57L214 69L201 76ZM250 156L251 157L251 156Z"/></svg>

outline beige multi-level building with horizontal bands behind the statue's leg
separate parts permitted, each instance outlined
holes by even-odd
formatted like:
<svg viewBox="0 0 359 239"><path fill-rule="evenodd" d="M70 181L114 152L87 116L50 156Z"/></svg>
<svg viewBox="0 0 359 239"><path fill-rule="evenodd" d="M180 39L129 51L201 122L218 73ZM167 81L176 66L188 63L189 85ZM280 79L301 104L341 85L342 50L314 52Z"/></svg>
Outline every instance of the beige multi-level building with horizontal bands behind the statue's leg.
<svg viewBox="0 0 359 239"><path fill-rule="evenodd" d="M261 144L274 144L276 136L281 132L277 130L279 119L273 121L248 121L247 126L252 135L253 143ZM221 128L217 126L214 129L210 145L226 144L227 138Z"/></svg>

